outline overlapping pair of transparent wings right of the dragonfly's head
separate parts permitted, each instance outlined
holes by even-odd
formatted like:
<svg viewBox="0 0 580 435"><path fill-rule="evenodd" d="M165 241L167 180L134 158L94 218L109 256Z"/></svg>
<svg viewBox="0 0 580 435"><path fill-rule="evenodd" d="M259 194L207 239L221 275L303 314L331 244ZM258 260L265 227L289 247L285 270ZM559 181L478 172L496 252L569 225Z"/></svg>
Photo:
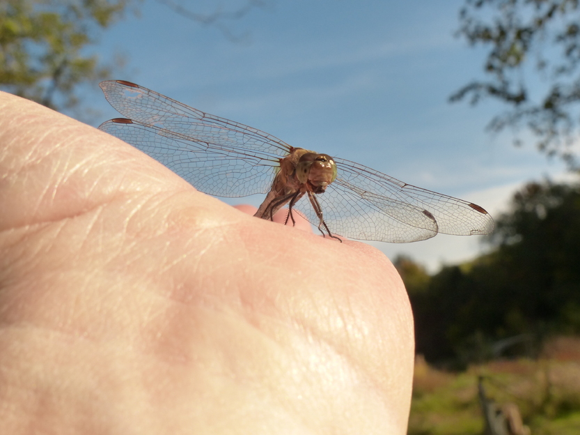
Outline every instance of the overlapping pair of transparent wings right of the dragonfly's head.
<svg viewBox="0 0 580 435"><path fill-rule="evenodd" d="M324 222L340 236L407 243L437 233L470 236L494 229L487 211L469 201L403 183L348 160L335 162L338 178L317 197ZM318 225L307 198L296 208Z"/></svg>

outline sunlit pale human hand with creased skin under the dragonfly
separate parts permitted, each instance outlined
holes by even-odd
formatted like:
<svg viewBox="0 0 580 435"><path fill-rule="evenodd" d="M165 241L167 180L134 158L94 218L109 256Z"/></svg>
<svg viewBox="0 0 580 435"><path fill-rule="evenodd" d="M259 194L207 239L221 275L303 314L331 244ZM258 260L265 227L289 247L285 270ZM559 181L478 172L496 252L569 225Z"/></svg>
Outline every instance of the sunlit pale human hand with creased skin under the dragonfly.
<svg viewBox="0 0 580 435"><path fill-rule="evenodd" d="M6 93L0 204L0 432L406 433L412 313L373 247Z"/></svg>

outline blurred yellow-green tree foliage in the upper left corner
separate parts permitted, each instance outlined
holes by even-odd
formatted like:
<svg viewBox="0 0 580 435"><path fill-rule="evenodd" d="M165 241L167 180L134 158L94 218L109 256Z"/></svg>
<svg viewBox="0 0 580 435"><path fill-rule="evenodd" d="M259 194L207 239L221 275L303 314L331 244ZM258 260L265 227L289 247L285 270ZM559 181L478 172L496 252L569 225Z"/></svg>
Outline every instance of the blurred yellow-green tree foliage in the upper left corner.
<svg viewBox="0 0 580 435"><path fill-rule="evenodd" d="M76 86L109 75L86 47L132 1L1 0L1 89L54 109L76 105Z"/></svg>

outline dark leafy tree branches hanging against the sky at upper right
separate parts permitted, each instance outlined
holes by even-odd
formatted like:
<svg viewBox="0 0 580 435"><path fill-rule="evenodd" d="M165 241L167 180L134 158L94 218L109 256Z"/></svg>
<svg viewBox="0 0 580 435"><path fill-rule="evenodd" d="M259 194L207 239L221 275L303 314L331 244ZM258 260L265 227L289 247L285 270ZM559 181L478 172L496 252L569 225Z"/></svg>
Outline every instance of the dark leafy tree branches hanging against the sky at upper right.
<svg viewBox="0 0 580 435"><path fill-rule="evenodd" d="M450 96L455 102L485 97L510 107L488 128L524 126L547 155L576 167L574 141L580 130L580 8L578 0L466 0L457 35L488 49L486 79ZM532 73L533 81L526 83ZM540 89L544 88L544 89ZM516 144L521 140L516 139Z"/></svg>

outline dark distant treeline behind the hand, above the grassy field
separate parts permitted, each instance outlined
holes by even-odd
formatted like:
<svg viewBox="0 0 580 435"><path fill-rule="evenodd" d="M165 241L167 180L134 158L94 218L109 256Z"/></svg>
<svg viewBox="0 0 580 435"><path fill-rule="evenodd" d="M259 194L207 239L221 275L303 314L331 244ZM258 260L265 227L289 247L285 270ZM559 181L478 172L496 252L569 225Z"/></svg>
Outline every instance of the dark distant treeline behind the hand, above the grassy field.
<svg viewBox="0 0 580 435"><path fill-rule="evenodd" d="M544 337L580 333L580 185L529 183L486 243L489 254L433 276L395 260L431 363L533 356Z"/></svg>

